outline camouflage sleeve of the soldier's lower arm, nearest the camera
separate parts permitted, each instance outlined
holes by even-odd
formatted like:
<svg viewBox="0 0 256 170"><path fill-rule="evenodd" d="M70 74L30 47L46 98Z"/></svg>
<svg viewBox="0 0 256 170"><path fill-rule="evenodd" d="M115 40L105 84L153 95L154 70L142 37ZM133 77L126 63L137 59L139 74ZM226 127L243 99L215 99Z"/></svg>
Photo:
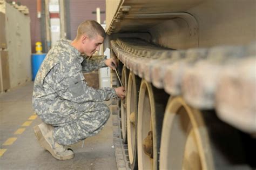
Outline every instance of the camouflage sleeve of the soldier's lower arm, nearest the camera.
<svg viewBox="0 0 256 170"><path fill-rule="evenodd" d="M69 77L64 77L63 73L55 68L52 69L45 79L57 96L65 100L76 103L84 103L85 101L104 101L111 97L116 97L116 91L110 87L104 87L96 90L87 86L82 73L78 72Z"/></svg>

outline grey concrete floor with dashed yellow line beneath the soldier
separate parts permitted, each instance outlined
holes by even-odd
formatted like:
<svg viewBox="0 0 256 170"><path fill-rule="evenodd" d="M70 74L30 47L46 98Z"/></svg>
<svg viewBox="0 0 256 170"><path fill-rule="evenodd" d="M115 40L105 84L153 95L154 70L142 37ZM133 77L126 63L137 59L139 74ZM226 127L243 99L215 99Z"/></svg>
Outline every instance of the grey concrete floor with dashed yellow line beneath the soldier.
<svg viewBox="0 0 256 170"><path fill-rule="evenodd" d="M83 148L82 142L70 146L75 158L60 161L45 151L33 133L41 120L33 114L32 89L28 83L0 94L0 169L117 169L111 118Z"/></svg>

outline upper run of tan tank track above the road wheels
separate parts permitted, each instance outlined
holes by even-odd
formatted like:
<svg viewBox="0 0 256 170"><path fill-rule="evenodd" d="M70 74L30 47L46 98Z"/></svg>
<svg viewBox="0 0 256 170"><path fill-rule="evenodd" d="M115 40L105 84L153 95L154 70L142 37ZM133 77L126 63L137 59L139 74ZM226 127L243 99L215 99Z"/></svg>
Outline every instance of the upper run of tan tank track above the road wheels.
<svg viewBox="0 0 256 170"><path fill-rule="evenodd" d="M215 109L221 119L253 133L255 46L172 50L138 38L111 40L116 57L140 78L172 96L183 96L195 108Z"/></svg>

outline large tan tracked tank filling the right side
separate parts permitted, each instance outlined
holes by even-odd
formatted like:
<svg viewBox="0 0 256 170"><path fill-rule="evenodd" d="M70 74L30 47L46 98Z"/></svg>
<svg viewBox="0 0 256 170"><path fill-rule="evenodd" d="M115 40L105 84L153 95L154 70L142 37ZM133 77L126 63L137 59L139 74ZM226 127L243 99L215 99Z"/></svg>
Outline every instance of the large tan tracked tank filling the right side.
<svg viewBox="0 0 256 170"><path fill-rule="evenodd" d="M256 167L255 16L254 0L106 1L119 167Z"/></svg>

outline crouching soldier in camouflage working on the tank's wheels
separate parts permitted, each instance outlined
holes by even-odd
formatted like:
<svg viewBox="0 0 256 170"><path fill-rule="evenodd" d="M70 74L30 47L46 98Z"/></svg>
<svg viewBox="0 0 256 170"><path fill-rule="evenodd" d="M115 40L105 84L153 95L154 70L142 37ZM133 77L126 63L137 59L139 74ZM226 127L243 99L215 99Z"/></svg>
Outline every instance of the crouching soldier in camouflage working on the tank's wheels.
<svg viewBox="0 0 256 170"><path fill-rule="evenodd" d="M82 71L97 70L116 61L92 56L106 33L95 21L81 23L75 40L61 39L44 59L34 82L32 104L43 123L34 127L42 147L59 160L72 159L66 145L75 144L102 130L109 119L109 107L102 101L125 97L124 87L87 86ZM85 57L84 57L84 56Z"/></svg>

